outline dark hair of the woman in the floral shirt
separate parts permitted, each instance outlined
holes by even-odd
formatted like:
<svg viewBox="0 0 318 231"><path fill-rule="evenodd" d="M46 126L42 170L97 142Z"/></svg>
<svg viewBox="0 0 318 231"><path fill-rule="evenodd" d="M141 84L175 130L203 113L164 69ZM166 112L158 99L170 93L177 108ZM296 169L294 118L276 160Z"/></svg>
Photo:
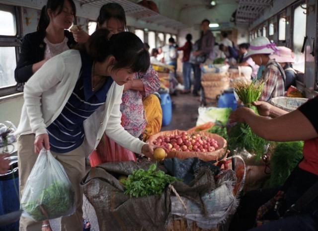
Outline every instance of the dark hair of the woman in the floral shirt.
<svg viewBox="0 0 318 231"><path fill-rule="evenodd" d="M123 23L124 29L126 29L126 14L124 8L115 2L110 2L102 5L97 17L96 29L100 28L102 24L107 22L110 18L116 18Z"/></svg>

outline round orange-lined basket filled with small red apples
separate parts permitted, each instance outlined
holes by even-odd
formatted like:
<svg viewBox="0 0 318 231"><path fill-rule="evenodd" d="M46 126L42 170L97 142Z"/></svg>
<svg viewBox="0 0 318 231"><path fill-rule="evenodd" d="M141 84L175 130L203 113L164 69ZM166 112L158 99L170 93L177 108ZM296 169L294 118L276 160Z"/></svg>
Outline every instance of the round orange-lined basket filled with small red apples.
<svg viewBox="0 0 318 231"><path fill-rule="evenodd" d="M204 161L213 161L223 159L227 153L227 141L217 134L207 132L164 131L149 137L147 142L165 148L166 158L198 157Z"/></svg>

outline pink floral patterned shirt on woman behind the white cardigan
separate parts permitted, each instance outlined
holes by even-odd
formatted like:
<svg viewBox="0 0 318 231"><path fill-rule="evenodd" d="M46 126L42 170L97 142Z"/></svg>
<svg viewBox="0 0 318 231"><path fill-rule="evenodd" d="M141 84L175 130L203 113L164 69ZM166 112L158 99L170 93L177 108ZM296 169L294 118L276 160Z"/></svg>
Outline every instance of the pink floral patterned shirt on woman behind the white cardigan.
<svg viewBox="0 0 318 231"><path fill-rule="evenodd" d="M137 73L134 79L141 79L145 92L127 90L123 93L120 111L122 125L132 136L139 137L147 125L143 99L157 91L160 87L158 73L150 65L146 73Z"/></svg>

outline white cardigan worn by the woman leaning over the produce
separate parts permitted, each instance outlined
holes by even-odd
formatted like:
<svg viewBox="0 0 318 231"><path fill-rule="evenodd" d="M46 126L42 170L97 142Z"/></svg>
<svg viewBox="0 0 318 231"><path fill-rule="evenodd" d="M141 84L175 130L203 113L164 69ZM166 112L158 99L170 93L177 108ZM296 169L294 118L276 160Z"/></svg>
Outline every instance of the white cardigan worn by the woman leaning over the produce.
<svg viewBox="0 0 318 231"><path fill-rule="evenodd" d="M25 84L24 104L16 135L47 133L48 127L62 112L79 78L81 59L78 50L68 50L48 60ZM85 154L98 145L103 133L117 144L141 154L146 144L131 136L121 126L120 104L124 86L115 81L107 92L104 105L84 122Z"/></svg>

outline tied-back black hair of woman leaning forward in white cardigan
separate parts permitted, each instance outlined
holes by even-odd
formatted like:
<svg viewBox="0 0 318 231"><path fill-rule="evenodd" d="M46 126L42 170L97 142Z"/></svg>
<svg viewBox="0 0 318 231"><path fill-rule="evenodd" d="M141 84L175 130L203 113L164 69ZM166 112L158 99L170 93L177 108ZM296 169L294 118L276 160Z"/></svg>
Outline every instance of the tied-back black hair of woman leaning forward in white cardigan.
<svg viewBox="0 0 318 231"><path fill-rule="evenodd" d="M131 32L112 34L101 28L76 49L86 52L95 62L103 62L108 56L114 56L116 63L113 70L128 68L132 72L146 72L150 66L149 52L144 48L144 43Z"/></svg>

